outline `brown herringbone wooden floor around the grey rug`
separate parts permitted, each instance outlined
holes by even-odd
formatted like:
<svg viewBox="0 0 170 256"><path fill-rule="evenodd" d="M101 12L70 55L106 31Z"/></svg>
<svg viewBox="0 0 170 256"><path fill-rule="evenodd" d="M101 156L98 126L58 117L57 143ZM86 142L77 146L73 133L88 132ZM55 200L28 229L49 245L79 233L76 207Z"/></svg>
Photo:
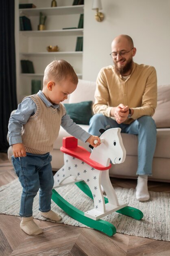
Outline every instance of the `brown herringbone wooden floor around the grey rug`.
<svg viewBox="0 0 170 256"><path fill-rule="evenodd" d="M7 154L0 153L0 186L16 177ZM113 186L135 188L136 180L111 179ZM170 193L170 184L148 182L150 191ZM94 229L35 220L44 230L28 236L20 229L20 217L0 215L0 256L170 256L170 243L116 234L109 237ZM129 227L130 228L130 227Z"/></svg>

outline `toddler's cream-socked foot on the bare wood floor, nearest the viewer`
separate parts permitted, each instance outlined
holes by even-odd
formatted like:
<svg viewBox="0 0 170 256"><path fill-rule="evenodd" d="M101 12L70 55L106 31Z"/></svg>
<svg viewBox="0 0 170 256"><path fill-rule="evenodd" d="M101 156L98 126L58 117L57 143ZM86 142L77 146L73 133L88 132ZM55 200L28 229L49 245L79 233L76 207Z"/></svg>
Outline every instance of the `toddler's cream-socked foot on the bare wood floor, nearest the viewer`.
<svg viewBox="0 0 170 256"><path fill-rule="evenodd" d="M20 228L28 235L39 235L43 230L33 221L33 216L22 217Z"/></svg>

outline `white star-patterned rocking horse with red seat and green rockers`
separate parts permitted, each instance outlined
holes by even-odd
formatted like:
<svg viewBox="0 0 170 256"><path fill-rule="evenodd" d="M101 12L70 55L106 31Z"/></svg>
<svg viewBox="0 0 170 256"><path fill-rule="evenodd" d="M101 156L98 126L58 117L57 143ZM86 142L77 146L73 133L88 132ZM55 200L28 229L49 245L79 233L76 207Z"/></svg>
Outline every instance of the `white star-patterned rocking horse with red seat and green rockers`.
<svg viewBox="0 0 170 256"><path fill-rule="evenodd" d="M100 218L114 211L131 216L136 220L143 218L142 211L129 207L127 203L118 200L109 178L110 160L113 164L120 164L126 157L120 131L120 128L100 130L103 132L100 136L101 144L97 148L93 148L92 153L78 146L76 138L63 138L63 146L60 150L64 153L64 166L54 175L52 190L52 200L63 211L75 220L109 236L116 234L116 227ZM71 183L75 183L79 189L94 200L94 209L83 212L67 202L56 191L58 187ZM104 197L101 186L105 190L107 198Z"/></svg>

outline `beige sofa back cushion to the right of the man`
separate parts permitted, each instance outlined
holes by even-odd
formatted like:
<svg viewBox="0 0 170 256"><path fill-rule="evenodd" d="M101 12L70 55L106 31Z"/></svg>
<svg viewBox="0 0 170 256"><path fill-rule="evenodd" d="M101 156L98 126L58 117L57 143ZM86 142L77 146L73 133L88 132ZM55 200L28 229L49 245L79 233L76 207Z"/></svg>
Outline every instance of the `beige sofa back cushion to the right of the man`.
<svg viewBox="0 0 170 256"><path fill-rule="evenodd" d="M170 85L159 85L157 108L153 115L157 128L170 128Z"/></svg>

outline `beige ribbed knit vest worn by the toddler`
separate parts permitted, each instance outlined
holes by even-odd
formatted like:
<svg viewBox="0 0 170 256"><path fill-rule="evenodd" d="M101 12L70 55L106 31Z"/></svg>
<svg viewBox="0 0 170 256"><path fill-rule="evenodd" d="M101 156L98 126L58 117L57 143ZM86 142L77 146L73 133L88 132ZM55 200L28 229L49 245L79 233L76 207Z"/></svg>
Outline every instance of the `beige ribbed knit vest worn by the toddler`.
<svg viewBox="0 0 170 256"><path fill-rule="evenodd" d="M59 135L61 118L65 115L65 108L62 104L59 104L59 108L47 107L37 94L29 97L37 105L37 111L23 125L22 143L26 152L43 155L53 148L53 143Z"/></svg>

